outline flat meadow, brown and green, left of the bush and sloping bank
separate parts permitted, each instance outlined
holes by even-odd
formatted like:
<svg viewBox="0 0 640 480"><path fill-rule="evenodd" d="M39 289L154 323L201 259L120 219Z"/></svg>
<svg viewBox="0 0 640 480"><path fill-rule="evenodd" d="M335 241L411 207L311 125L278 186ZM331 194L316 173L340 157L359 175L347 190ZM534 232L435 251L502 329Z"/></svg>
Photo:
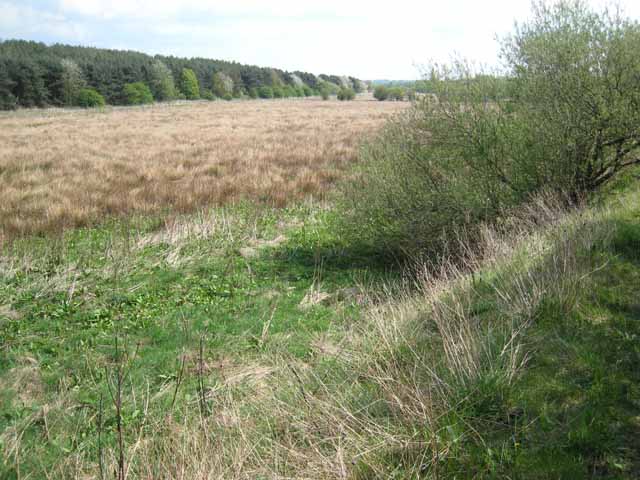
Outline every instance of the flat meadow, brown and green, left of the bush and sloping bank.
<svg viewBox="0 0 640 480"><path fill-rule="evenodd" d="M0 477L124 475L152 424L218 418L219 388L249 398L283 359L331 358L365 292L395 276L338 238L334 185L406 106L3 114ZM169 470L126 477L214 474Z"/></svg>

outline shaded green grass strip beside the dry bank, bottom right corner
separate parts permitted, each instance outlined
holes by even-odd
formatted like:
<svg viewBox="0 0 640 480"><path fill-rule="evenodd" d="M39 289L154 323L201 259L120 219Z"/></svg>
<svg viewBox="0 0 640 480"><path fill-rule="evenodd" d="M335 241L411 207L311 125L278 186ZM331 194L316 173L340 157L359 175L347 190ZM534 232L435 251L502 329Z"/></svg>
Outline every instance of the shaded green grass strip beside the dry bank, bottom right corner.
<svg viewBox="0 0 640 480"><path fill-rule="evenodd" d="M545 299L528 332L531 359L508 389L475 395L466 445L450 474L478 478L637 478L640 475L640 222L618 219L604 268L566 311ZM466 457L466 458L465 458Z"/></svg>

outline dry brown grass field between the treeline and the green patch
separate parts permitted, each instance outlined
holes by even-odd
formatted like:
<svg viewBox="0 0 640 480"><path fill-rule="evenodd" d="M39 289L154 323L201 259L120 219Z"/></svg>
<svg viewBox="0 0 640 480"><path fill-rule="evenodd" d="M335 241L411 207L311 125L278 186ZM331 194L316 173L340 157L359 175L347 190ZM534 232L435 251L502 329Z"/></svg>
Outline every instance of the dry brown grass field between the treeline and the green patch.
<svg viewBox="0 0 640 480"><path fill-rule="evenodd" d="M322 197L406 104L278 100L0 116L0 242L104 216Z"/></svg>

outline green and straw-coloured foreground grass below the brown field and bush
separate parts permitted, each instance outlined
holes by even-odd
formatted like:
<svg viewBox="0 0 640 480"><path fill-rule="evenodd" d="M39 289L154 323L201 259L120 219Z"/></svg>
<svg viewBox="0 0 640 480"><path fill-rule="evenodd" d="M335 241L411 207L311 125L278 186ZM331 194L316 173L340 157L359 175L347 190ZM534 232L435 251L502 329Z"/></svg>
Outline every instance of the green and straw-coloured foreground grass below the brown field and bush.
<svg viewBox="0 0 640 480"><path fill-rule="evenodd" d="M523 237L505 261L456 277L434 304L399 282L392 264L344 244L336 213L318 205L256 212L244 204L178 219L190 235L140 218L17 242L0 260L0 478L72 477L74 459L98 475L99 452L117 451L118 368L127 373L130 453L139 436L158 446L179 441L163 430L173 418L209 449L237 442L240 431L254 435L242 440L253 461L289 478L317 465L320 452L320 464L344 455L350 478L363 480L638 478L636 174L541 231L537 250ZM565 259L566 278L548 275L551 260ZM520 280L542 292L526 314L498 295L516 292ZM373 313L353 291L389 284L402 298ZM329 297L304 307L313 291ZM475 329L473 374L460 376L445 359L434 305L454 334L464 322ZM371 315L381 316L377 327ZM507 378L501 352L523 315L527 361ZM346 356L319 346L343 343ZM276 367L265 377L268 395L259 382L227 388L234 375ZM426 399L433 410L425 413ZM229 405L247 424L216 423ZM215 421L199 433L202 416ZM174 459L158 453L157 461Z"/></svg>

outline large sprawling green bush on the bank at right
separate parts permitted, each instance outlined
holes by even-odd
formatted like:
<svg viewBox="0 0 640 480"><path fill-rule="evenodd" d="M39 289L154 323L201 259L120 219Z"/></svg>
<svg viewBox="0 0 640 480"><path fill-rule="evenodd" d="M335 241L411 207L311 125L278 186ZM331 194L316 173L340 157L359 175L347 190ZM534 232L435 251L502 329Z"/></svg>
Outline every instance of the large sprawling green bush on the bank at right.
<svg viewBox="0 0 640 480"><path fill-rule="evenodd" d="M638 51L638 23L561 1L502 41L508 91L464 62L434 68L433 93L364 149L345 195L354 235L441 254L539 192L577 198L640 163Z"/></svg>

